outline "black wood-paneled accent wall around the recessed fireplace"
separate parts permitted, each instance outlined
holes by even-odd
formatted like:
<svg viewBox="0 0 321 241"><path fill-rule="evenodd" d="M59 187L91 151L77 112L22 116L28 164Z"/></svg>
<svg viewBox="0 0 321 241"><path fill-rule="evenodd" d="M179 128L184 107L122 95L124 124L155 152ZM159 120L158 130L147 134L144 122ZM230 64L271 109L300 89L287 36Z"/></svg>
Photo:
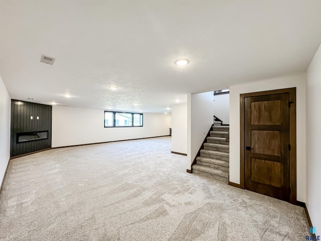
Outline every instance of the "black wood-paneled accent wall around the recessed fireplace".
<svg viewBox="0 0 321 241"><path fill-rule="evenodd" d="M33 116L33 119L30 118ZM37 119L39 116L39 119ZM51 148L52 106L21 100L11 100L10 156L18 156ZM48 131L48 139L17 142L17 133Z"/></svg>

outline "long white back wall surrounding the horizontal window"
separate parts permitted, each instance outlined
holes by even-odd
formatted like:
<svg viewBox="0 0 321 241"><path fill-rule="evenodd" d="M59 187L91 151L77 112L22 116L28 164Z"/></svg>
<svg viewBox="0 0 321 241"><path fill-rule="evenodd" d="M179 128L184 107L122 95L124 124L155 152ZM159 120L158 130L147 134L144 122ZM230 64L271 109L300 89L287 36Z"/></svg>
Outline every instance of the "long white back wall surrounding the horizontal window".
<svg viewBox="0 0 321 241"><path fill-rule="evenodd" d="M143 114L143 127L104 128L104 110L53 106L52 147L168 136L170 114Z"/></svg>

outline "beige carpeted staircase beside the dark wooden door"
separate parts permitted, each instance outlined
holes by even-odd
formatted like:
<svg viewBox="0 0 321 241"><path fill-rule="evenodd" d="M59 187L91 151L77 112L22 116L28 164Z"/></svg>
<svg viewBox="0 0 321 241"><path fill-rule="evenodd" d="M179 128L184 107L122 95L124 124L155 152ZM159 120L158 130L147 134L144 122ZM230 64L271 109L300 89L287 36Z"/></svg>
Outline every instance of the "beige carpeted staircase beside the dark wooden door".
<svg viewBox="0 0 321 241"><path fill-rule="evenodd" d="M214 122L211 136L204 143L201 156L196 158L193 173L214 178L225 183L229 181L229 126Z"/></svg>

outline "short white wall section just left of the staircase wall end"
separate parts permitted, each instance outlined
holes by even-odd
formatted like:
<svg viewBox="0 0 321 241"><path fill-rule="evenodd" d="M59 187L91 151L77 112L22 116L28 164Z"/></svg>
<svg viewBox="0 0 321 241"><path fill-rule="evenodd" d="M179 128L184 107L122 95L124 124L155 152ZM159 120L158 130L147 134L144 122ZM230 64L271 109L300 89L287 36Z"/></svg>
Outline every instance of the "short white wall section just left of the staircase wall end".
<svg viewBox="0 0 321 241"><path fill-rule="evenodd" d="M187 154L187 103L172 105L172 152Z"/></svg>

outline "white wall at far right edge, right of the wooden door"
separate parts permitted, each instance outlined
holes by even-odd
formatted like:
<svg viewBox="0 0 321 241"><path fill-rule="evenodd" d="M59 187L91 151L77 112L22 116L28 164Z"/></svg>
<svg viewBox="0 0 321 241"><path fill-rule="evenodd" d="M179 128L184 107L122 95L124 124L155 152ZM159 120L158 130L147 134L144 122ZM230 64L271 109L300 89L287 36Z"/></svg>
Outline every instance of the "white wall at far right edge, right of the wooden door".
<svg viewBox="0 0 321 241"><path fill-rule="evenodd" d="M321 45L307 69L307 210L321 235Z"/></svg>

